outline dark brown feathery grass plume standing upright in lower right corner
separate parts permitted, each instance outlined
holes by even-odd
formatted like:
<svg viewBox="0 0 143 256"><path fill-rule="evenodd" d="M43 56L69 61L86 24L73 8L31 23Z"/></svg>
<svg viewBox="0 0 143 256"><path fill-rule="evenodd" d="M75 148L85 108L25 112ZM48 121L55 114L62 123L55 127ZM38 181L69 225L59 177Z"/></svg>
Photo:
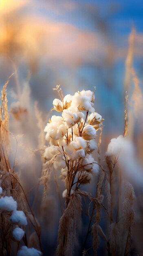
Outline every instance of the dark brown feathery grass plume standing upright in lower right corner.
<svg viewBox="0 0 143 256"><path fill-rule="evenodd" d="M125 182L125 200L123 202L123 220L127 229L124 255L128 255L131 247L132 227L134 225L134 189L130 182Z"/></svg>

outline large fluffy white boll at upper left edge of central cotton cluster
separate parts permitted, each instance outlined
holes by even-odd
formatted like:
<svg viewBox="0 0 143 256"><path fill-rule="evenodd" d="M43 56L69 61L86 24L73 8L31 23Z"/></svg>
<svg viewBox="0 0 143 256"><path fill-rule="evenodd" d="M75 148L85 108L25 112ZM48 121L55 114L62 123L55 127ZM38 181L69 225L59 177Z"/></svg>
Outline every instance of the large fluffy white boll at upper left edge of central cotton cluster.
<svg viewBox="0 0 143 256"><path fill-rule="evenodd" d="M44 132L46 132L46 139L61 139L67 132L67 128L64 125L62 117L52 116L51 121L46 125Z"/></svg>

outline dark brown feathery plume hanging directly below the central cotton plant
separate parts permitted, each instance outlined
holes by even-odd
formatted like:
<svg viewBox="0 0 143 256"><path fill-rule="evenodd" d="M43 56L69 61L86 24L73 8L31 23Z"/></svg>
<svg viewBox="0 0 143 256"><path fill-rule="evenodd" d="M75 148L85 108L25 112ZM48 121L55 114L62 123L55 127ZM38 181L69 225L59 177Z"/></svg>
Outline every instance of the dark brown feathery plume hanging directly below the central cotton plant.
<svg viewBox="0 0 143 256"><path fill-rule="evenodd" d="M72 194L68 207L59 220L57 256L73 256L76 229L81 216L81 196Z"/></svg>

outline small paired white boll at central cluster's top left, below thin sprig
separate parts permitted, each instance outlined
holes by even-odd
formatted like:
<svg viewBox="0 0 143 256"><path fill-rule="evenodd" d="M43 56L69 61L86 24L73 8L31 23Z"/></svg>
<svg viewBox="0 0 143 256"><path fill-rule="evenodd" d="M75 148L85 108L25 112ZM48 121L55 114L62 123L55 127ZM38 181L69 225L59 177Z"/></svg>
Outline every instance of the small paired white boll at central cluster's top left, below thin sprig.
<svg viewBox="0 0 143 256"><path fill-rule="evenodd" d="M70 94L67 94L64 97L63 101L61 101L60 99L54 99L53 100L54 110L56 110L57 112L62 112L64 109L69 108L71 104L71 100L72 100L72 96Z"/></svg>

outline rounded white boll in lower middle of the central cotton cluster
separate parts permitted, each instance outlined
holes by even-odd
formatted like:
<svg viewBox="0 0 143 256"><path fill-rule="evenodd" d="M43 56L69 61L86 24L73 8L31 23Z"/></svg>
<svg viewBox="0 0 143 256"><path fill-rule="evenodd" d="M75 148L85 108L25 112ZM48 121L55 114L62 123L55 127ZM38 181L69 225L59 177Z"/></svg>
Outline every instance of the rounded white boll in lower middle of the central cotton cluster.
<svg viewBox="0 0 143 256"><path fill-rule="evenodd" d="M85 148L87 147L87 141L82 137L74 137L74 141L71 141L64 147L64 150L68 156L68 159L76 160L78 158L84 158Z"/></svg>

